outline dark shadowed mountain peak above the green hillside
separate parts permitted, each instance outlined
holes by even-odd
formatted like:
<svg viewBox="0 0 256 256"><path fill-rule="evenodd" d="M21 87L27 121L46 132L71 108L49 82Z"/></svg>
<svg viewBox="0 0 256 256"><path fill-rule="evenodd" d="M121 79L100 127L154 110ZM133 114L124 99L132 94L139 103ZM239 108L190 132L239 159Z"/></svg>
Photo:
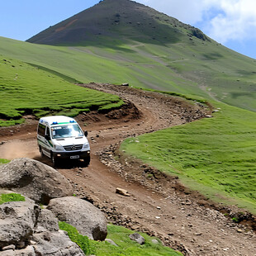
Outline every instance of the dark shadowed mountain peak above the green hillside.
<svg viewBox="0 0 256 256"><path fill-rule="evenodd" d="M104 0L31 37L45 45L88 45L106 40L136 40L151 44L178 43L183 36L208 40L198 29L130 0Z"/></svg>

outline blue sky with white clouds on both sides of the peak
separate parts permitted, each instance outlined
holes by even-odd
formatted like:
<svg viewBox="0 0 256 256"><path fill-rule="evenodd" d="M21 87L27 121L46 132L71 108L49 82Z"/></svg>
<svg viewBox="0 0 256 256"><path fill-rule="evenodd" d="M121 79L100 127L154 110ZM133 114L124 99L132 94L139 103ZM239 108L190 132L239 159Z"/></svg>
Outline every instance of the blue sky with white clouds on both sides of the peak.
<svg viewBox="0 0 256 256"><path fill-rule="evenodd" d="M117 0L118 1L118 0ZM27 40L99 0L0 0L0 36ZM256 59L255 0L136 0Z"/></svg>

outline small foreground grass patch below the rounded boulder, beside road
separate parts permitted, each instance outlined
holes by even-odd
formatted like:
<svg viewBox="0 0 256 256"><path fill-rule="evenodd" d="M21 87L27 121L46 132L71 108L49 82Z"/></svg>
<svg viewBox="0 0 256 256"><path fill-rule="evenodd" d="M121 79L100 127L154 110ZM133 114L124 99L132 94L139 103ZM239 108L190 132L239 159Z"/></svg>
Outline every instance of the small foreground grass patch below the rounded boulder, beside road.
<svg viewBox="0 0 256 256"><path fill-rule="evenodd" d="M117 247L109 244L106 241L97 242L89 240L87 236L79 235L78 231L72 226L65 222L59 222L59 228L61 230L66 230L68 232L69 238L77 243L81 249L83 249L84 254L95 254L97 256L181 256L183 254L174 251L168 247L162 245L161 241L159 244L154 244L152 239L154 237L149 237L140 233L145 238L145 244L140 245L129 238L130 234L135 233L134 231L127 230L121 226L107 225L107 238L113 240Z"/></svg>

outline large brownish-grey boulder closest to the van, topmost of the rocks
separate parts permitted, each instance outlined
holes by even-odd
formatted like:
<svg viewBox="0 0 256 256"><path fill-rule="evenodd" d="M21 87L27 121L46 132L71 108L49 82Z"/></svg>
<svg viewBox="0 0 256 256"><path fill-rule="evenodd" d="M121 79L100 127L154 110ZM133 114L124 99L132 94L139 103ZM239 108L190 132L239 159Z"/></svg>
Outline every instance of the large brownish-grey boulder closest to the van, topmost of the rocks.
<svg viewBox="0 0 256 256"><path fill-rule="evenodd" d="M13 159L0 165L0 187L19 192L42 204L73 194L69 181L55 168L32 159Z"/></svg>

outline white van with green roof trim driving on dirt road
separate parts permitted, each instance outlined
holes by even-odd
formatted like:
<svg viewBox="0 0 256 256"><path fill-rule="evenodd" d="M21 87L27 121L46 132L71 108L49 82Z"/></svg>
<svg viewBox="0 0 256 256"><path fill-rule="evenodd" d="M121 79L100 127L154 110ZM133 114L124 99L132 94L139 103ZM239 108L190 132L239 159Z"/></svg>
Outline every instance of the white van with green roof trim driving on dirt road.
<svg viewBox="0 0 256 256"><path fill-rule="evenodd" d="M60 159L83 159L90 163L90 145L77 121L68 116L41 117L37 127L40 154L56 165Z"/></svg>

